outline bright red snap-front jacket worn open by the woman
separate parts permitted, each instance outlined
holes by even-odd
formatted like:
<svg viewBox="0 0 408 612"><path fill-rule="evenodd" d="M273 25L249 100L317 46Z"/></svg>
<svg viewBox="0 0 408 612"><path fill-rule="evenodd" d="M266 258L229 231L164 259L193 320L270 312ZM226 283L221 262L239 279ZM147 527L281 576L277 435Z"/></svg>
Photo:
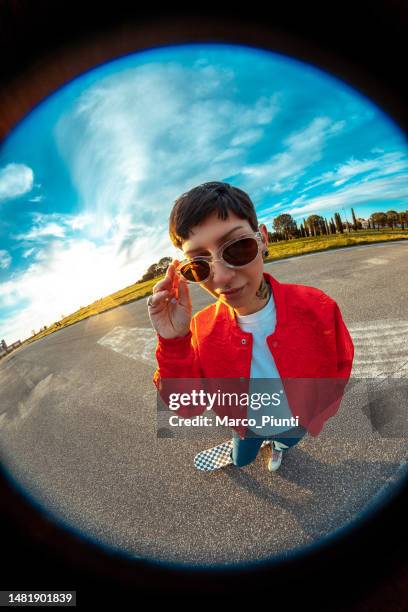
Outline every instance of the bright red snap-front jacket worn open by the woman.
<svg viewBox="0 0 408 612"><path fill-rule="evenodd" d="M271 284L276 306L276 327L266 338L268 347L293 416L317 436L340 407L353 364L353 341L339 306L323 291L281 283L265 271L263 275ZM192 317L186 336L163 338L157 333L157 338L158 367L153 382L166 405L177 382L169 380L170 389L166 379L232 378L234 390L248 390L252 334L241 330L232 306L217 301ZM179 391L188 392L188 381L180 383ZM181 406L175 414L190 417L204 410L202 406ZM247 410L250 416L245 407ZM215 405L213 411L227 414L224 406ZM234 429L245 437L246 427Z"/></svg>

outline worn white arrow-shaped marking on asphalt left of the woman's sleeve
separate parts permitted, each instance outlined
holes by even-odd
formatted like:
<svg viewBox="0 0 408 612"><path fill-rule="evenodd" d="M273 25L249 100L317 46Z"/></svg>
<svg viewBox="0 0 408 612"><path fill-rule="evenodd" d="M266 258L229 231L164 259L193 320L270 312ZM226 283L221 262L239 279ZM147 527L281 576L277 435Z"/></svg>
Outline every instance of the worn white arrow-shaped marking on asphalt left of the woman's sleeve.
<svg viewBox="0 0 408 612"><path fill-rule="evenodd" d="M157 335L150 327L114 327L97 343L136 361L157 364Z"/></svg>

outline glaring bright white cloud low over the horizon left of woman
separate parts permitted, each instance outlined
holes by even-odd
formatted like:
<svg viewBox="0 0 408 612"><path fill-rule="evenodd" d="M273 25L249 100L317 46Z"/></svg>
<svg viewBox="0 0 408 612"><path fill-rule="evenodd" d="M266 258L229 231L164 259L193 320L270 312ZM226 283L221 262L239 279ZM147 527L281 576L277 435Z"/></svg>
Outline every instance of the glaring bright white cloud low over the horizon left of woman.
<svg viewBox="0 0 408 612"><path fill-rule="evenodd" d="M118 216L102 245L81 238L52 239L36 249L26 270L0 283L0 307L11 306L15 311L7 321L0 321L0 337L9 343L23 340L32 329L50 325L61 314L136 282L163 253L174 255L167 233L158 237L155 227L129 223L129 216ZM128 232L133 239L123 249ZM23 301L24 308L19 309Z"/></svg>

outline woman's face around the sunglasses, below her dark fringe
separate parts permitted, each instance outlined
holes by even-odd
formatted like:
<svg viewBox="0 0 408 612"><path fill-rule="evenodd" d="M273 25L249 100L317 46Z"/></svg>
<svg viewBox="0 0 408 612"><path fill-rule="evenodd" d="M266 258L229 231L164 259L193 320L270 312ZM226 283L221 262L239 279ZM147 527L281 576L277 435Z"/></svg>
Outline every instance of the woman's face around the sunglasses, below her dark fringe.
<svg viewBox="0 0 408 612"><path fill-rule="evenodd" d="M239 315L257 312L265 305L267 298L265 292L263 298L259 298L256 292L263 278L262 252L268 245L268 231L261 224L259 231L262 234L264 244L257 257L244 268L228 268L221 261L212 264L212 274L209 279L200 283L200 286L213 295L217 300L232 306ZM200 225L196 225L190 231L188 240L183 243L182 250L186 257L197 255L211 255L217 258L217 248L232 238L239 238L243 234L255 234L247 219L240 219L229 211L227 219L219 219L214 211ZM237 293L228 295L224 293L229 289L239 289ZM269 294L267 294L269 295Z"/></svg>

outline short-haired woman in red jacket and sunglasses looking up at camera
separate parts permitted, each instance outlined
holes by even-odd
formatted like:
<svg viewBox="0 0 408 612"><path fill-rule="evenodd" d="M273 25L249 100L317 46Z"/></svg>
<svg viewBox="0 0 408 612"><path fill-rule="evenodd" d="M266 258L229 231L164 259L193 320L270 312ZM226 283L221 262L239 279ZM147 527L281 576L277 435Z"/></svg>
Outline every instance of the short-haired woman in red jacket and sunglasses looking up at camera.
<svg viewBox="0 0 408 612"><path fill-rule="evenodd" d="M280 381L289 403L274 407L280 419L273 430L233 427L234 465L252 462L268 439L272 443L262 446L262 454L274 471L284 449L306 432L316 436L339 408L354 357L340 309L320 289L280 283L264 270L266 226L258 227L251 199L236 187L204 183L181 195L170 214L169 233L183 259L172 261L148 300L158 338L153 382L168 404L165 379L250 380L252 388L257 379ZM217 302L192 316L189 283L199 284ZM321 393L302 380L309 378L331 384L326 382ZM186 406L178 414L204 410ZM225 414L222 407L217 410ZM288 425L292 417L300 424L293 426L292 419Z"/></svg>

